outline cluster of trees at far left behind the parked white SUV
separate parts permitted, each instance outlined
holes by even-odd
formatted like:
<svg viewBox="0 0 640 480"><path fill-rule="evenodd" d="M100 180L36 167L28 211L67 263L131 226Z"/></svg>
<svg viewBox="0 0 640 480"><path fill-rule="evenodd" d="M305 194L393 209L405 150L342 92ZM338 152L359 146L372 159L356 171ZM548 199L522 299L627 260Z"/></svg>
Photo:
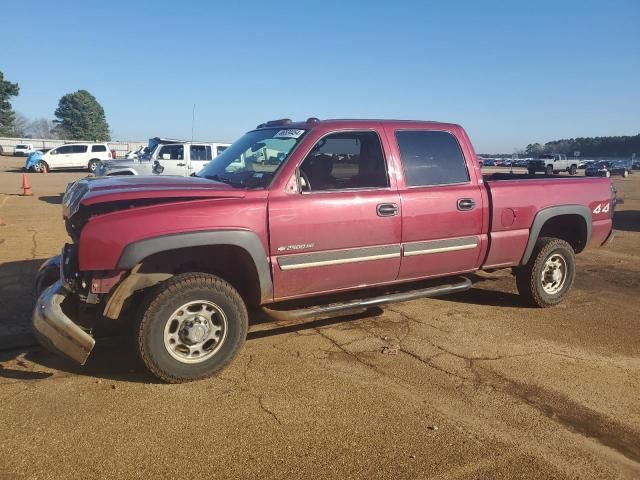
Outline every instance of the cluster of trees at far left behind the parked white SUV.
<svg viewBox="0 0 640 480"><path fill-rule="evenodd" d="M20 86L5 80L0 72L0 137L59 138L64 140L111 140L109 124L102 105L86 90L63 95L54 112L54 120L29 120L13 110L11 98Z"/></svg>

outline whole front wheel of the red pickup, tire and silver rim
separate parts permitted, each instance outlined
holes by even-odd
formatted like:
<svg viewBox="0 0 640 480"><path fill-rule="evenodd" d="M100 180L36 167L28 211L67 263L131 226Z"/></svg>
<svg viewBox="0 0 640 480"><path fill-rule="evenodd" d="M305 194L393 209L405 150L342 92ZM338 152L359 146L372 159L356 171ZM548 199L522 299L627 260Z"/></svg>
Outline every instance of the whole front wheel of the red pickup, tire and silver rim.
<svg viewBox="0 0 640 480"><path fill-rule="evenodd" d="M168 383L210 377L236 356L247 336L242 298L214 275L177 275L153 289L135 331L146 368Z"/></svg>

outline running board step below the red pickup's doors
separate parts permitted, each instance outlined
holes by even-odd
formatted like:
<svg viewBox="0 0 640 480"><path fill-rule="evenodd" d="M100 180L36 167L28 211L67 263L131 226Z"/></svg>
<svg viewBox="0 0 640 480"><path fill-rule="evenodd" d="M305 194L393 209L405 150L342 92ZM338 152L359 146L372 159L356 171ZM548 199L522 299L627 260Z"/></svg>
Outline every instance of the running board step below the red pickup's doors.
<svg viewBox="0 0 640 480"><path fill-rule="evenodd" d="M437 297L450 293L463 292L471 288L471 280L459 278L456 283L446 283L427 288L408 290L397 293L388 293L376 297L347 300L343 302L328 303L325 305L312 305L294 309L276 309L262 307L262 310L271 318L278 321L304 320L312 321L338 315L360 313L367 308L384 305L387 303L406 302L416 298Z"/></svg>

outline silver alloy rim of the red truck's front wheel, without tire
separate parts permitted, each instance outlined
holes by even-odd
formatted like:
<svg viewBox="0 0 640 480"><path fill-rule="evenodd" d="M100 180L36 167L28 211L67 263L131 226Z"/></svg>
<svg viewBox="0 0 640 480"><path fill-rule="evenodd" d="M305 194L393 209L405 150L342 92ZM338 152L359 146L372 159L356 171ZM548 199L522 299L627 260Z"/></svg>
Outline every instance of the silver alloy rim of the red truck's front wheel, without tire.
<svg viewBox="0 0 640 480"><path fill-rule="evenodd" d="M227 316L208 300L178 308L164 326L164 346L182 363L200 363L220 350L227 336Z"/></svg>

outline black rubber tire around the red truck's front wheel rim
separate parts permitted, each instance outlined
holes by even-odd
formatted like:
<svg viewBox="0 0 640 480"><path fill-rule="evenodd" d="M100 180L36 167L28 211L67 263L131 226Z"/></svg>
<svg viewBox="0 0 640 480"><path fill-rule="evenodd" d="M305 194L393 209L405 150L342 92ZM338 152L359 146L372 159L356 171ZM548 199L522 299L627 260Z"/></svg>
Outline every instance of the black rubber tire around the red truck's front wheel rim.
<svg viewBox="0 0 640 480"><path fill-rule="evenodd" d="M184 363L176 359L175 348L170 353L165 346L166 328L171 329L168 324L175 312L199 301L211 302L224 313L226 333L212 356L196 360L199 363ZM182 328L183 324L176 330ZM134 326L134 342L142 363L154 376L168 383L183 383L210 377L228 365L242 347L247 328L247 308L229 283L214 275L186 273L166 280L147 294Z"/></svg>

